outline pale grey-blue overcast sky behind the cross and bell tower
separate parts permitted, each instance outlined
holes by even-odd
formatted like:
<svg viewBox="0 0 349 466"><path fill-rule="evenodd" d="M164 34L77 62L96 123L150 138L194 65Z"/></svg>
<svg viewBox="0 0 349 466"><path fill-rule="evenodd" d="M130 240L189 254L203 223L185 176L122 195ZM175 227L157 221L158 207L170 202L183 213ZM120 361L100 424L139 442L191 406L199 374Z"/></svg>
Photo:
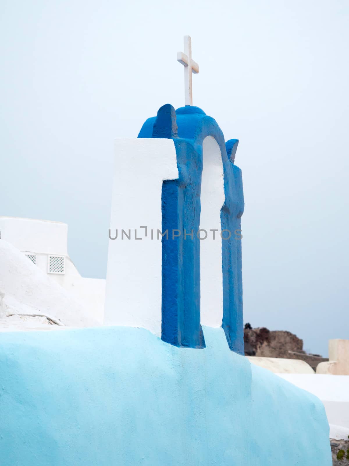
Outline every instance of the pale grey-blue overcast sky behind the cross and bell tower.
<svg viewBox="0 0 349 466"><path fill-rule="evenodd" d="M67 222L105 278L113 141L184 104L184 34L194 105L240 140L244 320L327 354L349 338L347 0L3 0L0 215Z"/></svg>

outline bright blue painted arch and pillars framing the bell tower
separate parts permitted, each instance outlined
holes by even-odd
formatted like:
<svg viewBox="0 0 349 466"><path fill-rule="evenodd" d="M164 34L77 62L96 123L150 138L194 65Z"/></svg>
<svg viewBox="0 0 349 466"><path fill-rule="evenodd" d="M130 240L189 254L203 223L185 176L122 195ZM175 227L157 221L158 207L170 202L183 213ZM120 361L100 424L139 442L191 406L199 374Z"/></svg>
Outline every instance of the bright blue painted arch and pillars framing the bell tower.
<svg viewBox="0 0 349 466"><path fill-rule="evenodd" d="M202 143L215 138L221 149L225 203L222 230L223 320L229 348L243 354L241 215L244 208L241 170L234 165L237 139L224 142L218 124L198 107L178 110L166 104L148 118L138 137L167 137L174 141L179 178L162 186L162 339L175 346L204 348L200 325L200 192ZM175 231L174 235L172 234ZM194 232L193 239L185 234Z"/></svg>

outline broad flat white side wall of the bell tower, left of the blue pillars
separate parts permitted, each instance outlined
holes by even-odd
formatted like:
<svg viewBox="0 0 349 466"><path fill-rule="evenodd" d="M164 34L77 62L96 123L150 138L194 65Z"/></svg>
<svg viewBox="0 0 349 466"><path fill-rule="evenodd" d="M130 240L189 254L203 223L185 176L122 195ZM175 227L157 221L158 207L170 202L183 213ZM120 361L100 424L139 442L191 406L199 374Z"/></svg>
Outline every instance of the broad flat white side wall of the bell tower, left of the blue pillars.
<svg viewBox="0 0 349 466"><path fill-rule="evenodd" d="M117 139L109 240L105 325L143 327L161 336L161 189L178 178L172 139ZM148 227L148 235L145 229ZM121 239L121 229L131 239ZM154 239L151 239L151 229ZM137 238L134 239L134 230ZM107 232L106 232L107 233ZM171 233L171 232L170 232Z"/></svg>

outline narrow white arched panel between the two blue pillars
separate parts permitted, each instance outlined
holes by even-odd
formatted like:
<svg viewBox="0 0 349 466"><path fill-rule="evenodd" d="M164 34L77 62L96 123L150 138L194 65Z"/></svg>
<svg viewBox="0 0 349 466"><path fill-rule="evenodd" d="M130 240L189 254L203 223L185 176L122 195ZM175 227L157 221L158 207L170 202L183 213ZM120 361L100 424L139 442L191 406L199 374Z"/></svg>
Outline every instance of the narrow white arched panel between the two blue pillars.
<svg viewBox="0 0 349 466"><path fill-rule="evenodd" d="M224 204L224 175L221 150L215 139L208 136L203 144L201 176L200 229L208 233L200 241L200 314L201 324L221 327L223 319L223 274L221 207ZM215 240L213 232L216 229ZM224 233L227 234L227 233ZM201 237L205 236L201 232Z"/></svg>

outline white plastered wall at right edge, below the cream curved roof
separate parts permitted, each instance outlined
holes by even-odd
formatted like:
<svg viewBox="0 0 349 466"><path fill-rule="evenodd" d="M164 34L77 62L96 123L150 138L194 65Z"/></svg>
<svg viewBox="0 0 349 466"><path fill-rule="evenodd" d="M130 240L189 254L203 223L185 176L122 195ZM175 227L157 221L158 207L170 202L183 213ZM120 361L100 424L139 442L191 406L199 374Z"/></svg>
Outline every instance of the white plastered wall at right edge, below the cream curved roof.
<svg viewBox="0 0 349 466"><path fill-rule="evenodd" d="M325 406L329 424L349 429L349 376L329 374L278 374L313 393Z"/></svg>

